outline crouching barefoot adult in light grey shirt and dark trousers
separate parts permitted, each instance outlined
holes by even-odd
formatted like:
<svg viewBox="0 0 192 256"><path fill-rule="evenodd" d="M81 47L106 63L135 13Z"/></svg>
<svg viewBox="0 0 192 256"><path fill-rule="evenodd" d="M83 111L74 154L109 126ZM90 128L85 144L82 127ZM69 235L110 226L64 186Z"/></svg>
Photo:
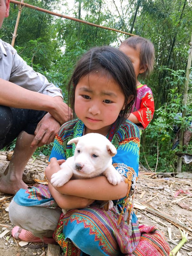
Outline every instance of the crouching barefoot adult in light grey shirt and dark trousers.
<svg viewBox="0 0 192 256"><path fill-rule="evenodd" d="M9 7L10 0L0 0L0 28L9 16ZM72 114L61 90L1 39L0 90L0 149L17 138L10 164L0 178L0 191L15 194L27 188L22 174L36 148L52 142Z"/></svg>

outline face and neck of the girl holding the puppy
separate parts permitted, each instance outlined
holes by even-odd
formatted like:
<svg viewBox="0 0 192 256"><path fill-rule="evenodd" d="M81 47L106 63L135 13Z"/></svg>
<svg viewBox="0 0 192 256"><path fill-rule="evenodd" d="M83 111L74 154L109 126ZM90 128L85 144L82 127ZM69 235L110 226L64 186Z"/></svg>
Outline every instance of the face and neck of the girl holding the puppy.
<svg viewBox="0 0 192 256"><path fill-rule="evenodd" d="M109 132L122 108L125 97L113 78L99 73L81 77L75 90L75 113L85 125L85 134Z"/></svg>

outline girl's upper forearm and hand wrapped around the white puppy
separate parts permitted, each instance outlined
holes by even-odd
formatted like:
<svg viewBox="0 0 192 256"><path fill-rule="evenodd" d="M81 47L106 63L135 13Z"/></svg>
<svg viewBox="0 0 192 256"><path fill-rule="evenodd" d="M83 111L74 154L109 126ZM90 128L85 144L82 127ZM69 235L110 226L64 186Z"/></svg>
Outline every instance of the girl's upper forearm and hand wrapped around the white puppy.
<svg viewBox="0 0 192 256"><path fill-rule="evenodd" d="M60 162L52 157L50 164L45 169L46 178L50 181L53 173L59 171ZM61 194L80 196L94 200L116 200L126 196L128 184L122 181L120 184L111 185L105 176L92 179L69 180L61 187L55 187ZM54 196L53 196L54 197Z"/></svg>

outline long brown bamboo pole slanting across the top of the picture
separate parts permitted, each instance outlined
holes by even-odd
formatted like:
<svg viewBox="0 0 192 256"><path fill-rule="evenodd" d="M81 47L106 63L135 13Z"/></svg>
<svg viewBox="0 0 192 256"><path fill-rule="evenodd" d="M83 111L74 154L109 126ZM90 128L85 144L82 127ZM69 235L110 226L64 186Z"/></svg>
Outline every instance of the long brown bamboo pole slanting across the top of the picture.
<svg viewBox="0 0 192 256"><path fill-rule="evenodd" d="M131 33L125 32L125 31L122 31L122 30L118 30L118 29L115 29L115 28L104 27L104 26L101 26L101 25L97 25L97 24L85 21L85 20L79 20L79 19L76 19L76 18L73 18L73 17L69 17L69 16L66 16L66 15L57 13L57 12L48 11L48 10L45 10L43 8L31 5L31 4L21 3L21 2L16 1L16 0L10 0L10 3L20 4L22 6L25 5L25 7L28 7L28 8L31 8L31 9L35 9L35 10L40 11L40 12L46 12L46 13L49 13L49 14L52 14L52 15L55 15L55 16L58 16L58 17L61 17L61 18L65 18L65 19L68 19L68 20L74 20L74 21L81 22L81 23L84 23L84 24L87 24L87 25L90 25L90 26L94 26L94 27L98 27L98 28L104 28L104 29L116 31L116 32L119 32L119 33L122 33L122 34L126 34L126 35L130 35L130 36L137 36L137 35L134 35L134 34L131 34Z"/></svg>

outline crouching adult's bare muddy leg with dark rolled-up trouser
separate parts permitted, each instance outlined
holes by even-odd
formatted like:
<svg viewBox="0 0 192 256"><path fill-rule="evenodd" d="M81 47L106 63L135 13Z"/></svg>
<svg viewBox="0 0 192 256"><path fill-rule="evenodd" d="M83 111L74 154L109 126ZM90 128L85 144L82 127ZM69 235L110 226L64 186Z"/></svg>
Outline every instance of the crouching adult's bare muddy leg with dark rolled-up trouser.
<svg viewBox="0 0 192 256"><path fill-rule="evenodd" d="M15 194L20 188L27 188L22 180L23 170L36 147L30 148L38 122L46 114L44 111L11 108L12 125L6 134L5 145L17 138L14 154L0 178L0 191Z"/></svg>

